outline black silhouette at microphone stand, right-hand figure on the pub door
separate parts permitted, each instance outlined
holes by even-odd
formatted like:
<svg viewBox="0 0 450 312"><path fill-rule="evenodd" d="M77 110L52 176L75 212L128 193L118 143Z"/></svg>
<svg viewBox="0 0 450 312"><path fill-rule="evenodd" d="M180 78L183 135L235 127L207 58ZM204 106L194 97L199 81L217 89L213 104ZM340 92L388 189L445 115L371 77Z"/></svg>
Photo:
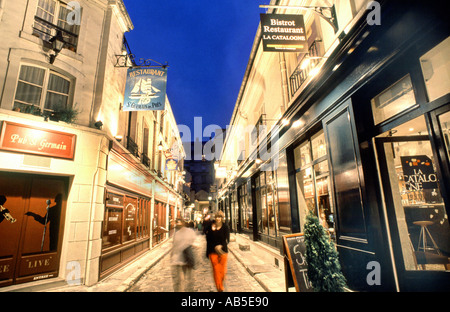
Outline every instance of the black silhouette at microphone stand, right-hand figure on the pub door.
<svg viewBox="0 0 450 312"><path fill-rule="evenodd" d="M62 194L59 193L55 196L55 205L50 207L50 200L47 200L47 213L44 216L38 215L37 213L28 211L25 215L33 217L35 221L44 225L43 235L42 235L42 245L41 251L43 251L43 242L45 238L45 232L47 230L47 224L50 223L50 251L55 251L58 249L58 235L59 235L59 224L61 219L61 204L62 204Z"/></svg>

